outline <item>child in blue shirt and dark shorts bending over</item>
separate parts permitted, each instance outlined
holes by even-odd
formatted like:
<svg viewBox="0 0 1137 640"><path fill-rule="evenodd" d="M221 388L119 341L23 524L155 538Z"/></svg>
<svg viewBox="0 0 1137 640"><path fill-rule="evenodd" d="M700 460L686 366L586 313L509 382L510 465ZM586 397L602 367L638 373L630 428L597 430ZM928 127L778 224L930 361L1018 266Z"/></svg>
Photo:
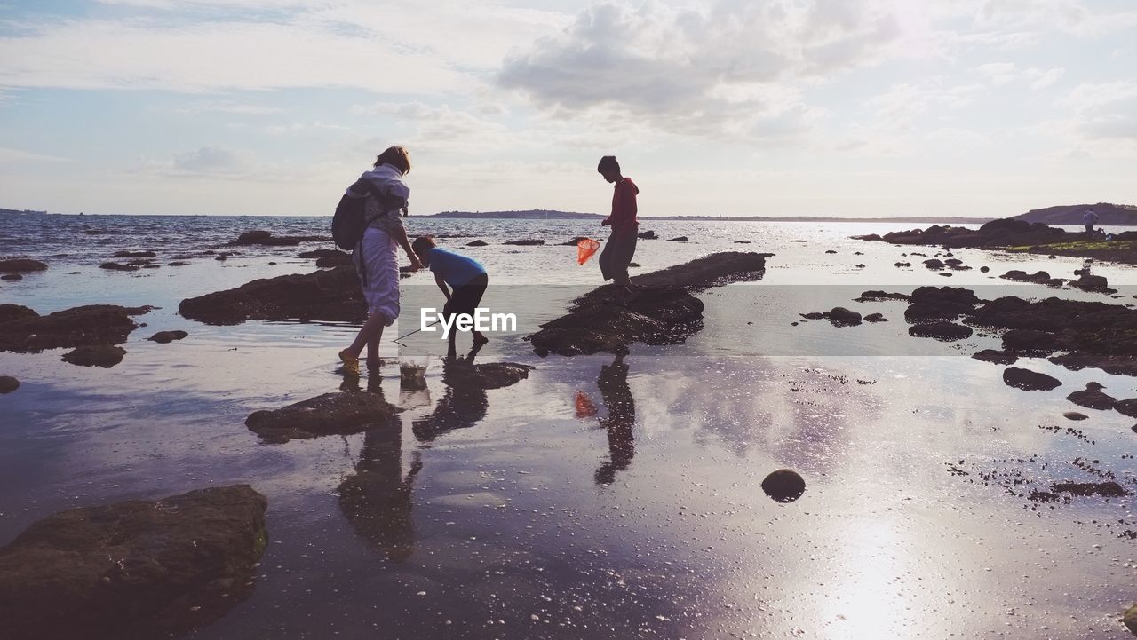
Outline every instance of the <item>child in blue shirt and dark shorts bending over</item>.
<svg viewBox="0 0 1137 640"><path fill-rule="evenodd" d="M482 301L482 296L485 294L485 288L489 285L489 276L485 273L485 267L473 258L447 251L446 249L439 249L434 239L430 235L415 239L410 248L418 256L423 266L434 272L434 282L442 290L442 294L446 296L447 301L446 306L442 307L442 315L447 317L459 314L473 316L478 305ZM447 324L450 324L450 322L448 319ZM489 338L485 338L484 333L480 331L473 331L472 333L475 347L489 342ZM457 331L451 329L450 335L447 336L449 340L449 347L447 348L448 358L454 358L457 355L454 344L456 336Z"/></svg>

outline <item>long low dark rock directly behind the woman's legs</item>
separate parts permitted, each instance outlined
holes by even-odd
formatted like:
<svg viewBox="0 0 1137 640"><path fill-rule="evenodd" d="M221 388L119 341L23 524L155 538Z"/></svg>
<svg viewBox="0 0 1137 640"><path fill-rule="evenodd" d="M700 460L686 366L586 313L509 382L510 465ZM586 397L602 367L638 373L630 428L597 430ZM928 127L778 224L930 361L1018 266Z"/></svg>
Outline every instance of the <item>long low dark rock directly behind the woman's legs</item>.
<svg viewBox="0 0 1137 640"><path fill-rule="evenodd" d="M366 302L355 267L254 280L236 289L186 298L177 310L206 324L249 319L363 322Z"/></svg>

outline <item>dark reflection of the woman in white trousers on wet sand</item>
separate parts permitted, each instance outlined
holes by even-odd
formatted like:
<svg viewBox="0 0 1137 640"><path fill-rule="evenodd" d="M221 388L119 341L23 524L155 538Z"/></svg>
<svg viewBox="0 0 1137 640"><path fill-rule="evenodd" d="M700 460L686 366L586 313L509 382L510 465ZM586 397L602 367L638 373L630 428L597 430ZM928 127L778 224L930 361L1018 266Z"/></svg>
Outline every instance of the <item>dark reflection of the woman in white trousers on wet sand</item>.
<svg viewBox="0 0 1137 640"><path fill-rule="evenodd" d="M382 396L377 379L374 384L368 380L367 391ZM404 477L402 422L392 416L388 424L375 425L364 435L355 473L339 488L340 509L348 522L391 560L405 560L415 550L410 493L422 466L415 451Z"/></svg>

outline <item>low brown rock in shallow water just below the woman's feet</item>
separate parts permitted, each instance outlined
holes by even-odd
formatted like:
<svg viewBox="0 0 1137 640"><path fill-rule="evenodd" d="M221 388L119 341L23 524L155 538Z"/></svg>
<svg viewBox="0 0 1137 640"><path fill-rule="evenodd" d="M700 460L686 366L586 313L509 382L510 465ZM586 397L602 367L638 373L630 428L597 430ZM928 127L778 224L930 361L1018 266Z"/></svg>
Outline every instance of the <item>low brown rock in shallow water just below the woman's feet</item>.
<svg viewBox="0 0 1137 640"><path fill-rule="evenodd" d="M359 433L389 425L402 409L375 393L342 391L324 393L273 410L249 414L244 425L272 443L321 435Z"/></svg>

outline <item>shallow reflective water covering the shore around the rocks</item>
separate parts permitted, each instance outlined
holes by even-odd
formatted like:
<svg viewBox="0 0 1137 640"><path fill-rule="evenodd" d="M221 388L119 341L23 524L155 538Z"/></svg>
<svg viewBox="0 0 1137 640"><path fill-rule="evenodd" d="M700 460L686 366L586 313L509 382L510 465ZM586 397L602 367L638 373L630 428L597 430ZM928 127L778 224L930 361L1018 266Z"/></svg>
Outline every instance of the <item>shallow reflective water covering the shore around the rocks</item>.
<svg viewBox="0 0 1137 640"><path fill-rule="evenodd" d="M595 263L578 267L571 247L496 242L563 242L588 226L412 219L472 235L447 240L455 246L473 234L491 242L462 250L489 268L490 306L518 309L522 326L495 336L478 361L537 369L514 387L462 393L442 384L435 357L428 389L407 392L389 364L362 384L405 407L400 427L265 444L246 416L340 389L334 352L354 329L208 326L177 316L177 302L309 271L312 260L294 256L317 244L236 248L242 253L225 261L197 256L185 267L135 273L96 267L117 249L198 253L255 227L326 233L327 219L35 224L47 223L57 233L2 232L0 255L51 264L0 283L3 302L40 313L92 302L160 309L136 318L148 326L111 369L63 363L64 350L0 354L0 373L22 381L0 396L0 543L65 508L248 482L269 500L272 543L256 589L190 637L1130 637L1119 618L1137 592L1137 542L1122 537L1137 530L1132 499L1049 505L1022 494L1095 480L1072 464L1078 458L1134 488L1134 421L1064 399L1090 380L1114 397L1137 397L1134 380L1031 359L1018 366L1063 385L1019 391L1002 383L1002 367L965 357L997 338L910 338L904 305L852 300L866 289L952 284L981 298L1107 301L990 277L1010 268L1070 277L1080 260L963 250L956 257L974 269L941 277L922 257L931 257L935 248L847 239L889 225L645 222L662 238L692 242L641 241L642 271L722 250L775 257L757 283L702 293L704 329L682 344L633 346L622 361L541 359L521 335L598 284ZM83 233L98 225L109 238ZM897 260L916 266L896 268ZM993 273L979 273L982 265ZM1094 273L1114 286L1134 281L1131 267ZM405 282L405 307L438 297L426 274ZM1131 300L1129 289L1121 294ZM797 315L833 306L891 322L837 329ZM399 324L416 326L407 316ZM146 340L172 329L190 335ZM441 341L420 334L401 350L428 352L440 354ZM384 355L400 349L388 343ZM1090 419L1068 422L1067 410ZM1040 429L1051 425L1061 430ZM795 502L762 493L762 479L779 467L808 483ZM1013 474L1021 484L1006 480Z"/></svg>

